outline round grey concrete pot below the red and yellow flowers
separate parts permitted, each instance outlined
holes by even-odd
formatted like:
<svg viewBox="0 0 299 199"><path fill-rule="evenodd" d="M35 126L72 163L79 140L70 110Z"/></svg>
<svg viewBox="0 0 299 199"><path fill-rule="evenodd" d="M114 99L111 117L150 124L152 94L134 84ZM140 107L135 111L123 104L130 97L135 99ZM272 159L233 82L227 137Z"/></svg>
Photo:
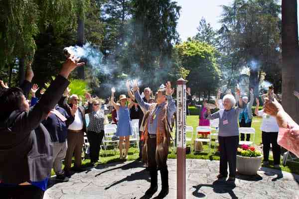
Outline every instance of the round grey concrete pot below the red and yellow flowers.
<svg viewBox="0 0 299 199"><path fill-rule="evenodd" d="M261 167L263 155L259 157L243 157L237 155L237 170L243 175L256 175Z"/></svg>

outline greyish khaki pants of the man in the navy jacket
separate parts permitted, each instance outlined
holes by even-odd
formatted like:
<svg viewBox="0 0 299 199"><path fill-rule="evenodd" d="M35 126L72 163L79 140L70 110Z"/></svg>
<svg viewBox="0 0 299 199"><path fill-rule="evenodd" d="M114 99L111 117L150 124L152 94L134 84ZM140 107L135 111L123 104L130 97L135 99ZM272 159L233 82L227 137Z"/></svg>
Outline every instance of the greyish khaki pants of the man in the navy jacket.
<svg viewBox="0 0 299 199"><path fill-rule="evenodd" d="M61 160L65 158L66 150L66 141L62 143L53 142L53 169L56 175L63 174Z"/></svg>

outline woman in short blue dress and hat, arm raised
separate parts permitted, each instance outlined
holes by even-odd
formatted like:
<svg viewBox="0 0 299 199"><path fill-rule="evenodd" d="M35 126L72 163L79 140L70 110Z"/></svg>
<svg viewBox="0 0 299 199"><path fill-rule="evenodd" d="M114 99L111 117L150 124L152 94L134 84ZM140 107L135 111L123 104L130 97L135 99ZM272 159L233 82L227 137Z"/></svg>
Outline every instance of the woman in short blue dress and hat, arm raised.
<svg viewBox="0 0 299 199"><path fill-rule="evenodd" d="M120 148L120 159L128 158L128 150L130 146L130 135L133 135L132 124L130 120L130 112L126 105L127 97L120 95L119 103L114 101L115 88L112 88L111 103L117 110L119 117L117 124L116 136L120 137L119 148ZM125 151L123 150L123 142L125 139Z"/></svg>

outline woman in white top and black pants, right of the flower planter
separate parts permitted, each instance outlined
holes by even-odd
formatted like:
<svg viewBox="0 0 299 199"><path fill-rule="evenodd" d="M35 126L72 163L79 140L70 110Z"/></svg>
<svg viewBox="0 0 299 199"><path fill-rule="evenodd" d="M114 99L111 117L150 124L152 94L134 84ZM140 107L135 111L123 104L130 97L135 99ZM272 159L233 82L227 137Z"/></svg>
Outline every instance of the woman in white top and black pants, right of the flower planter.
<svg viewBox="0 0 299 199"><path fill-rule="evenodd" d="M259 110L259 99L256 99L257 105L255 108L255 114L263 118L261 131L262 131L262 142L263 142L263 152L264 152L264 165L269 164L269 151L270 143L272 144L272 152L274 159L274 166L279 167L280 157L281 157L281 147L277 143L279 126L277 124L276 118L265 113L264 109Z"/></svg>

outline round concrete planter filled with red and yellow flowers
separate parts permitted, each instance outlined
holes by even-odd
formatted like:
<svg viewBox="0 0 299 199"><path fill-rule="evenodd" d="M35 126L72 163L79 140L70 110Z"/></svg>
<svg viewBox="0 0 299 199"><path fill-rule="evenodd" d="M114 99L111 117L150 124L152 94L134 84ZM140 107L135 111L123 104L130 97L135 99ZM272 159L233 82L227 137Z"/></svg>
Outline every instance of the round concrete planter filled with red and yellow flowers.
<svg viewBox="0 0 299 199"><path fill-rule="evenodd" d="M243 175L256 175L263 155L255 147L243 144L237 152L237 170Z"/></svg>

